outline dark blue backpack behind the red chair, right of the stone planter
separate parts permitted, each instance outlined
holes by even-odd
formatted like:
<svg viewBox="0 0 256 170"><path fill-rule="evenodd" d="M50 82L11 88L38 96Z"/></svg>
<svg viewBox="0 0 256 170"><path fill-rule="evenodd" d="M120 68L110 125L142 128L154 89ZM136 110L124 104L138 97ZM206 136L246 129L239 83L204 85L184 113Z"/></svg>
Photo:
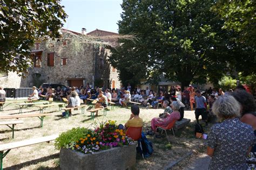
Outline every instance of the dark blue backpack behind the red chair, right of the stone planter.
<svg viewBox="0 0 256 170"><path fill-rule="evenodd" d="M142 149L140 148L140 144L142 145ZM144 158L150 157L150 155L153 153L153 145L152 142L147 140L146 135L144 132L142 132L142 138L138 140L138 147L137 147L137 152L140 154L143 153Z"/></svg>

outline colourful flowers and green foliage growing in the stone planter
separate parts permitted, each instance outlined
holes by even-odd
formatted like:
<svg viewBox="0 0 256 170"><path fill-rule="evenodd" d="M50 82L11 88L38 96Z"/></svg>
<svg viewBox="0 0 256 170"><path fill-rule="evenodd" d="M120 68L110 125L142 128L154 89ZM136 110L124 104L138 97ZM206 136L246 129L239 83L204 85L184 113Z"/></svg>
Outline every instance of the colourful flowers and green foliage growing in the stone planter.
<svg viewBox="0 0 256 170"><path fill-rule="evenodd" d="M133 140L123 130L118 130L116 121L95 124L95 130L73 128L60 134L55 141L55 147L68 148L88 154L112 147L131 145Z"/></svg>

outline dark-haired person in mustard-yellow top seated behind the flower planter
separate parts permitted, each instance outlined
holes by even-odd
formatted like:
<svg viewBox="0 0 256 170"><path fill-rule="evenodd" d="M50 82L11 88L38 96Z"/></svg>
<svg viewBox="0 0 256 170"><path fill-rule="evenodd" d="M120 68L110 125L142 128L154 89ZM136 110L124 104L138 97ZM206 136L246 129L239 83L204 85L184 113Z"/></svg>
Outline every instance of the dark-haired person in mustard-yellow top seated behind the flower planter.
<svg viewBox="0 0 256 170"><path fill-rule="evenodd" d="M118 129L128 129L129 127L142 127L143 119L139 117L139 107L138 105L132 105L131 116L125 125L119 124Z"/></svg>

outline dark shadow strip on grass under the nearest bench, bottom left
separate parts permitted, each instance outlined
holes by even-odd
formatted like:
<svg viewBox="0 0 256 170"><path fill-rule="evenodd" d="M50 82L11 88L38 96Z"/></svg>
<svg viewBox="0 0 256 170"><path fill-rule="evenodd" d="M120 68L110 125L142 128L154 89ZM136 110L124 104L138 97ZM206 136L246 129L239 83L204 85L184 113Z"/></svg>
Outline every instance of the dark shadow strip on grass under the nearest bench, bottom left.
<svg viewBox="0 0 256 170"><path fill-rule="evenodd" d="M31 155L32 157L32 155ZM10 166L10 167L6 167L4 169L21 169L21 168L25 168L27 166L30 165L36 165L38 164L38 162L45 162L51 159L55 159L55 158L59 158L59 153L53 154L53 155L49 155L47 157L43 157L43 158L39 158L39 159L34 159L31 161L27 161L27 162L23 162L21 164L16 164L14 166ZM55 168L49 168L49 167L39 167L37 169L60 169L59 167L55 167Z"/></svg>

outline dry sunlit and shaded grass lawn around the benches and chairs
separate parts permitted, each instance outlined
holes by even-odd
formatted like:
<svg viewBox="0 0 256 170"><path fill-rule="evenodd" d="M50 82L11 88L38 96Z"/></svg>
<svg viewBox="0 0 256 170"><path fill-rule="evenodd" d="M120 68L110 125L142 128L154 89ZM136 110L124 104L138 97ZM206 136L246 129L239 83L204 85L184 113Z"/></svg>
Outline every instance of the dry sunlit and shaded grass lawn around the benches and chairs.
<svg viewBox="0 0 256 170"><path fill-rule="evenodd" d="M22 103L22 101L18 101L18 103ZM88 107L90 106L87 106L86 109ZM3 110L0 112L1 116L16 115L19 112L19 107L13 101L8 101L8 103L5 103ZM144 121L144 131L150 128L151 119L158 117L161 112L163 112L163 109L140 109L140 117ZM23 114L36 113L39 114L37 107L23 109ZM93 121L90 120L90 112L87 111L84 115L81 114L81 110L73 111L72 117L64 119L56 105L46 108L44 113L51 113L52 116L45 117L43 128L39 128L40 120L37 117L21 118L24 124L16 125L14 139L11 138L11 129L7 126L0 126L0 144L59 134L76 127L92 128ZM111 119L117 121L117 124L124 124L129 119L130 114L128 108L115 107L114 110L107 111L107 116L103 116L103 111L100 111L99 117L95 121L102 122ZM184 117L192 119L192 122L194 121L194 114L191 111L185 111ZM195 139L193 130L194 126L191 123L186 129L181 130L176 138L170 133L171 144L167 143L164 136L160 139L148 136L148 139L153 142L154 153L146 159L137 155L137 168L161 169L184 154L197 150L199 145L203 146L204 141ZM59 151L55 150L53 142L16 148L11 150L3 159L3 167L6 169L59 169Z"/></svg>

